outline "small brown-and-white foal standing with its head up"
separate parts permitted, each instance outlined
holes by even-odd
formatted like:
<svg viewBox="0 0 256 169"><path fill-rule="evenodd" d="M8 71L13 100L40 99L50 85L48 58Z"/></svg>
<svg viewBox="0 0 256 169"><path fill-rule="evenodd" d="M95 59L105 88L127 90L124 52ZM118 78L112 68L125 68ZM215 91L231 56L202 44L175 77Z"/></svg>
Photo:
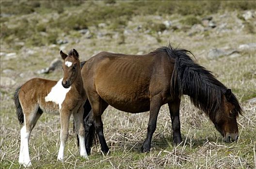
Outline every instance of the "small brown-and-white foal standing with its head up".
<svg viewBox="0 0 256 169"><path fill-rule="evenodd" d="M60 52L64 63L64 78L59 81L33 78L16 89L14 98L16 114L20 124L20 154L19 163L31 166L29 156L29 138L36 121L45 113L60 113L61 144L58 160L64 158L64 147L68 138L68 124L73 114L79 141L84 142L83 105L87 99L85 94L78 52L73 49L68 55ZM87 157L85 146L80 146L80 155Z"/></svg>

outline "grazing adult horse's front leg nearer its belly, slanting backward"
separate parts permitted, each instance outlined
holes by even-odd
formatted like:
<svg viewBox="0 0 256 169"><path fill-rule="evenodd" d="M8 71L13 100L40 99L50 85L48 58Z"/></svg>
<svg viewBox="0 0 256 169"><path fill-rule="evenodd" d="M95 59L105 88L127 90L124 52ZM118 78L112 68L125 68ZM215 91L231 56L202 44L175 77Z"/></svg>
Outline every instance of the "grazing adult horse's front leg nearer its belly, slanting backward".
<svg viewBox="0 0 256 169"><path fill-rule="evenodd" d="M161 107L160 98L157 96L152 97L150 100L150 113L149 113L149 121L147 126L147 136L141 148L141 151L143 153L150 151L151 139L157 127L157 117L158 117L160 107Z"/></svg>

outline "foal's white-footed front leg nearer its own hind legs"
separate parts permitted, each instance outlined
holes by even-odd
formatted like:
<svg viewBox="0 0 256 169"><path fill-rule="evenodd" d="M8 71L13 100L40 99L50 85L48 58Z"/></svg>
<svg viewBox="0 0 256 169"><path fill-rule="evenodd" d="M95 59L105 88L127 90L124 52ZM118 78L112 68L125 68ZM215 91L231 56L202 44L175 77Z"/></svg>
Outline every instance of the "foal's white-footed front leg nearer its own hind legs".
<svg viewBox="0 0 256 169"><path fill-rule="evenodd" d="M62 109L60 114L61 114L61 134L60 134L61 144L60 144L60 149L59 149L59 154L57 159L63 160L64 148L68 138L68 124L69 124L69 118L71 113L69 110Z"/></svg>

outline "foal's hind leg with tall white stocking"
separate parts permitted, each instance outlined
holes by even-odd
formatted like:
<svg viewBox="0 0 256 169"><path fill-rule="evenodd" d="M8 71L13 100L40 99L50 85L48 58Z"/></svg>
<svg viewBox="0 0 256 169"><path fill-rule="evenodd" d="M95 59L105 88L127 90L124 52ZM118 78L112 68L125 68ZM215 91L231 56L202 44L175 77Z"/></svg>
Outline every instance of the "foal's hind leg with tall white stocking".
<svg viewBox="0 0 256 169"><path fill-rule="evenodd" d="M29 155L29 138L33 127L41 116L42 112L38 111L38 105L30 109L24 109L24 126L20 130L20 153L19 164L23 166L31 166Z"/></svg>

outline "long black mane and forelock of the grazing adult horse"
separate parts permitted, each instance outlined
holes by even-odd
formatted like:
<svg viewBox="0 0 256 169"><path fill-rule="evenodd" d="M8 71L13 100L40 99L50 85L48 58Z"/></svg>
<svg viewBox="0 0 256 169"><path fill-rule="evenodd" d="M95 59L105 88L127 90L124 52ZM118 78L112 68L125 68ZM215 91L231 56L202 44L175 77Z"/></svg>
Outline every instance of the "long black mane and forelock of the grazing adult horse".
<svg viewBox="0 0 256 169"><path fill-rule="evenodd" d="M204 111L211 120L214 120L216 112L223 109L222 97L227 87L218 81L206 68L195 63L188 55L192 52L186 49L163 46L151 53L165 52L175 59L175 67L171 78L171 94L181 97L189 95L192 103ZM232 93L228 100L236 109L236 116L242 113L239 101Z"/></svg>

